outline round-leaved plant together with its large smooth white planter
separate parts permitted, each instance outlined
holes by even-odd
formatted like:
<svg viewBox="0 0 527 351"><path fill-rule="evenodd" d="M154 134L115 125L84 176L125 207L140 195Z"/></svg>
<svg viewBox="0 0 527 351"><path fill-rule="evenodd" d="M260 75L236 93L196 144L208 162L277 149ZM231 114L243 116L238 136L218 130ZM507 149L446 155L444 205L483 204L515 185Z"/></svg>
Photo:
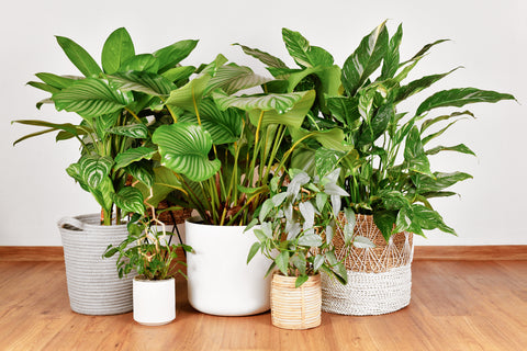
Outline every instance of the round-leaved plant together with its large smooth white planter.
<svg viewBox="0 0 527 351"><path fill-rule="evenodd" d="M194 249L187 257L189 302L203 313L269 309L268 261L257 256L246 264L256 238L244 230L287 163L292 150L282 150L282 140L302 124L314 92L234 95L268 80L220 55L171 92L166 105L177 118L153 135L172 185L200 214L187 222L186 242Z"/></svg>

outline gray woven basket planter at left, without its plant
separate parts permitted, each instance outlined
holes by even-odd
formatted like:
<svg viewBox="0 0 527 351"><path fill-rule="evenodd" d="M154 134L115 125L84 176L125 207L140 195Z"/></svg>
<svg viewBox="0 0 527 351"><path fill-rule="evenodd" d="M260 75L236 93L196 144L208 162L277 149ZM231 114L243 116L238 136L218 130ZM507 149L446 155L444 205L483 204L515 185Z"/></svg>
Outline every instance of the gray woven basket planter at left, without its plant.
<svg viewBox="0 0 527 351"><path fill-rule="evenodd" d="M119 279L116 256L103 259L106 247L119 245L126 225L101 226L100 215L65 217L58 222L64 246L71 309L83 315L117 315L133 308L133 275Z"/></svg>

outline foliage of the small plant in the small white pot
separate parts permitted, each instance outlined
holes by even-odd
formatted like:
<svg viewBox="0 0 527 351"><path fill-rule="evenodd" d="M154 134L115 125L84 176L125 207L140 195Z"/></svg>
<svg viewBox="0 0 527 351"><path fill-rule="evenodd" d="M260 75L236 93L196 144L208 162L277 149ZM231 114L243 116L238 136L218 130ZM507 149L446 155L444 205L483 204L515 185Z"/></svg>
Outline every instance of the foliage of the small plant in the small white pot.
<svg viewBox="0 0 527 351"><path fill-rule="evenodd" d="M119 253L120 278L131 272L137 273L142 280L166 280L178 273L187 278L180 269L186 263L178 261L177 250L182 248L184 252L191 252L192 248L171 244L172 233L167 231L165 224L157 219L155 207L149 207L153 216L134 214L127 224L128 237L119 246L110 245L103 257Z"/></svg>

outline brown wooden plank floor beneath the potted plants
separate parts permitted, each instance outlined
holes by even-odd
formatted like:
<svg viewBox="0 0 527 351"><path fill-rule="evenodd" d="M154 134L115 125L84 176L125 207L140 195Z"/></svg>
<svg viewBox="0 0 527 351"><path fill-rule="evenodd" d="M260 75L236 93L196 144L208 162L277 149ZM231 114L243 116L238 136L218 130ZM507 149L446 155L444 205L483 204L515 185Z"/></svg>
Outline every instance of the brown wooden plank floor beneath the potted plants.
<svg viewBox="0 0 527 351"><path fill-rule="evenodd" d="M413 264L412 303L390 315L323 313L322 326L290 331L269 313L214 317L187 302L177 317L144 327L132 314L69 309L63 262L0 261L0 350L527 350L527 261Z"/></svg>

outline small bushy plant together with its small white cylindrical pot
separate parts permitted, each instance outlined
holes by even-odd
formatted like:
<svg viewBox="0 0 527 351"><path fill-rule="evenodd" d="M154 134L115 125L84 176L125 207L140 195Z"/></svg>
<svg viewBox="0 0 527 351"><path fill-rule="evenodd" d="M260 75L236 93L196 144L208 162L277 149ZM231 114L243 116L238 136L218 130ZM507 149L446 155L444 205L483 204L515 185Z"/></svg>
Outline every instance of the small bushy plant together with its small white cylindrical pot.
<svg viewBox="0 0 527 351"><path fill-rule="evenodd" d="M119 278L133 273L134 320L146 326L160 326L176 318L176 274L186 274L179 268L177 250L190 252L192 248L171 242L171 233L165 223L135 214L127 224L128 237L119 246L110 245L105 258L117 254Z"/></svg>

